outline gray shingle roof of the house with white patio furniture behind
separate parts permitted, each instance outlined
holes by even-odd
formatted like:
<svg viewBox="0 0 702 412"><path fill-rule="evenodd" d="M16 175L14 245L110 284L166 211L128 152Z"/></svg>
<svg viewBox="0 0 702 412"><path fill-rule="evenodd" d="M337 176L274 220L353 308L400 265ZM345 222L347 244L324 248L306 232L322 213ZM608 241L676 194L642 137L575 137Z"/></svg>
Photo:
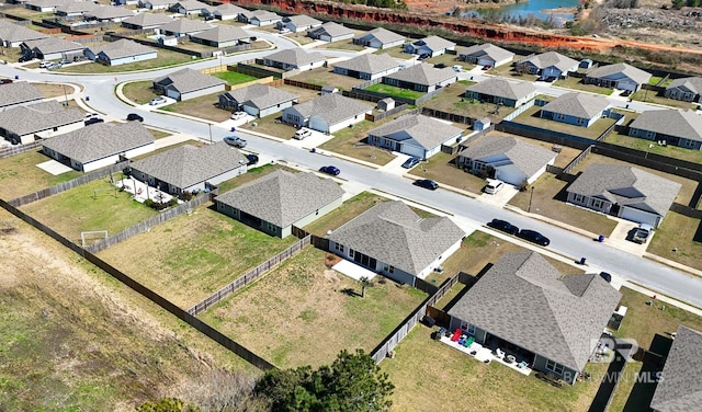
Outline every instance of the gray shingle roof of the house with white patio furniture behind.
<svg viewBox="0 0 702 412"><path fill-rule="evenodd" d="M205 147L180 146L132 163L132 169L178 187L190 187L246 167L247 159L224 141Z"/></svg>

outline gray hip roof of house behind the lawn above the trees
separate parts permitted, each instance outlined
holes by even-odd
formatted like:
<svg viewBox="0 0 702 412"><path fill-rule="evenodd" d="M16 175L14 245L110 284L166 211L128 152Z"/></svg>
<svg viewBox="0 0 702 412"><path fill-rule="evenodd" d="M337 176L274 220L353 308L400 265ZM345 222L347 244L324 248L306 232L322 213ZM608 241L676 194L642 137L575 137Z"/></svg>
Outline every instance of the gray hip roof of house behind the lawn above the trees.
<svg viewBox="0 0 702 412"><path fill-rule="evenodd" d="M422 219L401 201L395 201L373 206L328 238L417 275L464 236L450 218Z"/></svg>

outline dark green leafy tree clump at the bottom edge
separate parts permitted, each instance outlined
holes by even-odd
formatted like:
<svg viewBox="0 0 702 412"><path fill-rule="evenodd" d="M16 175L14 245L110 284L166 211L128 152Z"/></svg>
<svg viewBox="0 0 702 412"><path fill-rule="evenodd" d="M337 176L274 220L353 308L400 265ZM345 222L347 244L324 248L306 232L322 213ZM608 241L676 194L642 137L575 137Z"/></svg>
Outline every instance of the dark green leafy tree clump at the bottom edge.
<svg viewBox="0 0 702 412"><path fill-rule="evenodd" d="M387 411L395 386L362 350L342 351L329 366L313 370L270 370L256 393L274 411L372 412Z"/></svg>

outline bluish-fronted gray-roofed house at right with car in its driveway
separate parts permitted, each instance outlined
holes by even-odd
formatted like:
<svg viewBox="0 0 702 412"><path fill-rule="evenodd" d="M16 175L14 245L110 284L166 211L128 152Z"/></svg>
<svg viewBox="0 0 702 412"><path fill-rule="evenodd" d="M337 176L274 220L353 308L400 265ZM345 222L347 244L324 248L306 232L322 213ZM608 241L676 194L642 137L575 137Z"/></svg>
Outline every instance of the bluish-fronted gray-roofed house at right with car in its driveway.
<svg viewBox="0 0 702 412"><path fill-rule="evenodd" d="M639 224L660 226L681 184L619 164L592 164L567 188L568 203Z"/></svg>

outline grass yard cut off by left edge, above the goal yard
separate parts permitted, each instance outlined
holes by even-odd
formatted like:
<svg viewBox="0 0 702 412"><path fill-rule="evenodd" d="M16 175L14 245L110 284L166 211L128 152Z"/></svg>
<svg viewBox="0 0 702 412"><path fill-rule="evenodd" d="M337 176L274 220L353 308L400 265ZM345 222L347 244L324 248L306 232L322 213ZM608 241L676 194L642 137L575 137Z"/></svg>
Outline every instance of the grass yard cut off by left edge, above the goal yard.
<svg viewBox="0 0 702 412"><path fill-rule="evenodd" d="M21 154L0 159L0 198L13 198L34 193L44 187L69 181L80 176L77 170L53 175L37 168L38 163L52 160L41 152L32 150Z"/></svg>

